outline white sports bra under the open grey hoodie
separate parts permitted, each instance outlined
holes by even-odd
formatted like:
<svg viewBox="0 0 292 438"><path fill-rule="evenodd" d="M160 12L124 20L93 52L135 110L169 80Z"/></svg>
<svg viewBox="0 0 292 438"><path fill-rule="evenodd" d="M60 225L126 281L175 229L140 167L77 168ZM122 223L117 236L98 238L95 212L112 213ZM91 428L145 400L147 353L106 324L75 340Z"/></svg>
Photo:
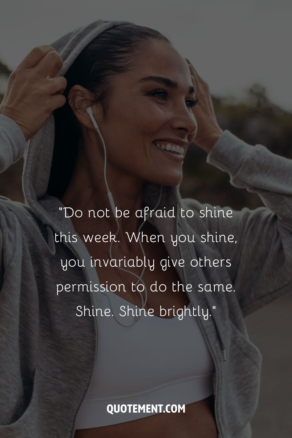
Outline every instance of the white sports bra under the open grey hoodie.
<svg viewBox="0 0 292 438"><path fill-rule="evenodd" d="M102 294L102 309L111 308L124 325L134 317L121 306L136 309L113 292ZM110 305L109 305L110 302ZM191 309L191 304L187 309ZM107 412L109 404L187 405L213 394L214 363L197 318L179 320L142 315L130 327L112 316L102 317L99 354L88 393L77 416L76 429L109 426L155 413Z"/></svg>

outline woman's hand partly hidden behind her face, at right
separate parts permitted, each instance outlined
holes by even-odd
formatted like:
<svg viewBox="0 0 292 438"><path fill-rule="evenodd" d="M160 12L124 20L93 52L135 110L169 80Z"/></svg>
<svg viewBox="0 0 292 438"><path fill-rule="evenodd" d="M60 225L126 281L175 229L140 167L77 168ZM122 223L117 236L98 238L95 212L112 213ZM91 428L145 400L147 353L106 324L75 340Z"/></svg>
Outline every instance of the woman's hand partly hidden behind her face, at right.
<svg viewBox="0 0 292 438"><path fill-rule="evenodd" d="M192 108L198 124L197 135L193 141L200 148L204 149L205 152L209 153L218 138L221 137L223 131L216 119L208 84L200 78L190 61L186 58L185 60L190 68L190 75L196 90L196 98L199 99L197 105Z"/></svg>

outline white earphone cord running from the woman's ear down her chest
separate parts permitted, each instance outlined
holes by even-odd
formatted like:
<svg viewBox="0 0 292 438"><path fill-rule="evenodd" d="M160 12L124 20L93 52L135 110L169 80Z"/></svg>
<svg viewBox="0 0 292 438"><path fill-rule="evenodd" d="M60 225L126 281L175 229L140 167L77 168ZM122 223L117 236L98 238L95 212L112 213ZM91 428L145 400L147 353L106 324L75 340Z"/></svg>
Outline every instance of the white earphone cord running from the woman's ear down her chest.
<svg viewBox="0 0 292 438"><path fill-rule="evenodd" d="M104 142L104 140L103 140L103 138L102 138L102 134L101 134L101 132L100 132L100 130L99 130L98 124L96 123L96 120L95 120L95 118L93 117L93 113L92 113L91 106L89 106L89 107L86 109L86 112L88 113L88 115L89 115L89 117L90 117L90 119L91 119L91 121L92 121L93 126L95 127L96 131L99 133L99 136L100 136L100 138L101 138L101 140L102 140L102 145L103 145L104 154L105 154L105 162L104 162L103 175L104 175L104 180L105 180L105 183L106 183L106 190L107 190L107 195L108 195L108 198L109 198L109 203L110 203L110 206L111 206L112 211L113 211L113 216L116 218L116 223L117 223L117 230L116 230L116 234L115 234L115 237L116 237L117 234L119 233L119 230L120 230L120 224L119 224L119 221L118 221L118 219L117 219L117 217L116 217L116 206L115 206L115 203L114 203L114 201L113 201L113 195L112 195L112 193L111 193L110 190L109 190L109 186L108 186L107 179L106 179L106 145L105 145L105 142ZM155 207L154 207L154 210L158 207L158 205L159 205L159 203L160 203L160 200L161 200L161 197L162 197L162 186L160 187L160 195L159 195L159 199L158 199L157 204L156 204ZM141 225L139 226L139 229L138 229L138 235L139 235L138 241L139 241L139 244L140 244L140 247L141 247L141 250L142 250L142 253L143 253L143 256L144 256L144 257L145 257L145 253L144 253L144 249L143 249L143 247L142 247L141 240L140 240L140 230L141 230L141 227L142 227L142 226L144 225L144 223L146 222L146 220L148 219L149 215L150 215L150 212L149 212L148 215L145 217L144 221L141 223ZM113 245L113 240L111 241L111 244L110 244L110 246L109 246L109 256L110 256L110 259L111 259L111 260L113 260L113 258L112 258L112 245ZM119 269L121 269L122 271L129 272L130 274L132 274L132 275L134 275L135 277L137 277L137 281L136 281L136 283L135 283L135 289L136 289L136 290L137 290L137 284L138 284L140 281L141 281L141 283L143 283L143 285L144 285L144 291L145 291L145 301L144 301L144 298L143 298L142 293L141 293L139 290L137 290L137 292L139 293L139 295L140 295L140 297L141 297L141 300L142 300L142 309L144 309L144 307L145 307L145 305L146 305L146 302L147 302L147 289L146 289L146 285L145 285L144 281L142 280L142 276L143 276L143 274L144 274L144 272L145 272L145 265L144 265L144 268L143 268L142 273L141 273L140 276L137 276L137 274L135 274L134 272L131 272L131 271L128 271L127 269L121 268L120 266L116 266L116 267L119 268ZM109 301L109 297L108 297L108 295L107 295L106 293L103 293L103 292L102 292L102 294L105 295L105 296L107 297L108 301ZM110 301L109 301L109 305L110 305ZM111 305L110 305L110 307L112 308ZM113 312L112 312L112 314L113 314ZM130 327L130 326L133 325L133 324L134 324L134 323L135 323L140 317L141 317L141 315L137 315L137 316L135 316L134 321L133 321L131 324L129 324L129 325L124 325L124 324L120 323L120 321L118 321L118 320L116 319L115 315L113 314L113 318L115 319L115 321L116 321L118 324L122 325L123 327Z"/></svg>

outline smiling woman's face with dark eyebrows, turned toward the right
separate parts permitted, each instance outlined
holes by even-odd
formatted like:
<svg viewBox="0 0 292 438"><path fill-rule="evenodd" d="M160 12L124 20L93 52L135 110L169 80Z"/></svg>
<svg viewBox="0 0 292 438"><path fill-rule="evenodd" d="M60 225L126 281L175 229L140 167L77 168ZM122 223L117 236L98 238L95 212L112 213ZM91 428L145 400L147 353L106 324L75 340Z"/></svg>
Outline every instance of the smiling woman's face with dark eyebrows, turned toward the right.
<svg viewBox="0 0 292 438"><path fill-rule="evenodd" d="M111 87L106 121L99 120L107 165L137 180L179 184L197 132L186 61L169 43L152 40L134 68L111 79Z"/></svg>

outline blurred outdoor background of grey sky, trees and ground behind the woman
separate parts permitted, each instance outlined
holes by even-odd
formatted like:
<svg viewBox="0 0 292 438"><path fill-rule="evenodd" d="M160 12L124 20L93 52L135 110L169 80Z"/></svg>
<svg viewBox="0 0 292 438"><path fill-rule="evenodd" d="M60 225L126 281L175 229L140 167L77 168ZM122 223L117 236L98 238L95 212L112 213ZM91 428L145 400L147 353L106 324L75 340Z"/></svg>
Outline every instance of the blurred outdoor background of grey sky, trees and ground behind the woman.
<svg viewBox="0 0 292 438"><path fill-rule="evenodd" d="M98 19L131 21L159 30L191 61L210 86L222 129L292 158L291 17L286 0L181 0L179 6L171 0L105 5L83 0L82 9L59 0L7 3L0 16L0 101L11 70L34 46ZM23 202L22 166L21 159L0 174L0 194ZM262 205L256 194L232 187L196 145L187 152L183 175L183 197L238 210ZM289 295L246 318L250 339L263 356L253 437L292 437L291 308Z"/></svg>

